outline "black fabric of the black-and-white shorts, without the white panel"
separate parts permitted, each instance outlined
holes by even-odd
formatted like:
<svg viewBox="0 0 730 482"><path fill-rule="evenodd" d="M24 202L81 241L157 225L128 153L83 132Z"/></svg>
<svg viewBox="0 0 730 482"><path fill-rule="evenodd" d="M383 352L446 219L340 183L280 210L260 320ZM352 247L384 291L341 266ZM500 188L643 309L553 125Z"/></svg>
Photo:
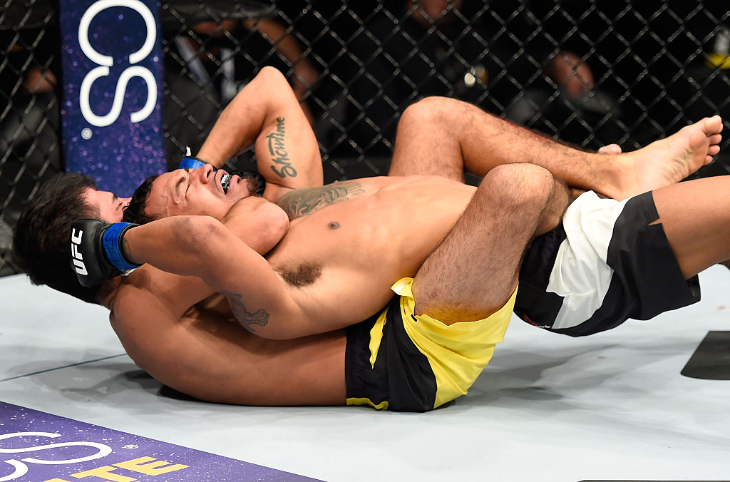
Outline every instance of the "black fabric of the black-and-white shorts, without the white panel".
<svg viewBox="0 0 730 482"><path fill-rule="evenodd" d="M591 318L563 329L552 327L563 297L548 293L550 271L561 242L562 226L529 248L522 271L515 313L531 324L571 336L603 332L629 318L648 320L665 311L698 302L699 279L685 280L648 192L626 202L613 226L607 264L613 270L602 305ZM545 253L532 253L545 250ZM547 264L547 266L546 266ZM548 275L545 275L548 272ZM523 283L524 278L524 283ZM523 297L520 297L523 294Z"/></svg>

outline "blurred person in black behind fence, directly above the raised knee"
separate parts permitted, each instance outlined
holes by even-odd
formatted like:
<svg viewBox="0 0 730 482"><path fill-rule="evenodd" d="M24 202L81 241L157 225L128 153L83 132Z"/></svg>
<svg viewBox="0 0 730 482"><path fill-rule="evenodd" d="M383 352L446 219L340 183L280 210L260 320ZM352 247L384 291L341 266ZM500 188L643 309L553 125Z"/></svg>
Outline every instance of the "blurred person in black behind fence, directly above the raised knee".
<svg viewBox="0 0 730 482"><path fill-rule="evenodd" d="M502 66L499 45L480 33L480 9L474 0L401 0L348 41L344 123L355 154L388 156L400 112L424 96L493 107L490 77Z"/></svg>

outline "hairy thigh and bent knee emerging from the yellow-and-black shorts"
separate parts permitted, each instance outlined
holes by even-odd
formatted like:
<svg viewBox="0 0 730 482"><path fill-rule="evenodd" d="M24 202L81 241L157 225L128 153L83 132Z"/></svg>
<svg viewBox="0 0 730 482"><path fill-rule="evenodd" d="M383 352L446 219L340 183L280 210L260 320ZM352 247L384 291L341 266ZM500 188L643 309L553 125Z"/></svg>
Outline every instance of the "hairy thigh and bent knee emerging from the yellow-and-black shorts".
<svg viewBox="0 0 730 482"><path fill-rule="evenodd" d="M499 310L515 291L527 243L556 226L567 204L565 186L545 169L493 169L416 274L416 314L452 324Z"/></svg>

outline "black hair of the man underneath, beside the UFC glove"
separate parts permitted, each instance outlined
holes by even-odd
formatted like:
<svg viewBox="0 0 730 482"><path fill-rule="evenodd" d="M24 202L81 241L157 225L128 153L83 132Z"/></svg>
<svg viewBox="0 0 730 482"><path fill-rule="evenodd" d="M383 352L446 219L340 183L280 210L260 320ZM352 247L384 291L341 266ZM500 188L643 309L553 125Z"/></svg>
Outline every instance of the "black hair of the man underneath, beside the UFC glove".
<svg viewBox="0 0 730 482"><path fill-rule="evenodd" d="M71 223L99 218L99 209L84 200L96 188L91 177L60 173L47 180L28 202L12 237L12 263L34 285L48 285L88 303L98 303L101 286L85 288L71 267Z"/></svg>

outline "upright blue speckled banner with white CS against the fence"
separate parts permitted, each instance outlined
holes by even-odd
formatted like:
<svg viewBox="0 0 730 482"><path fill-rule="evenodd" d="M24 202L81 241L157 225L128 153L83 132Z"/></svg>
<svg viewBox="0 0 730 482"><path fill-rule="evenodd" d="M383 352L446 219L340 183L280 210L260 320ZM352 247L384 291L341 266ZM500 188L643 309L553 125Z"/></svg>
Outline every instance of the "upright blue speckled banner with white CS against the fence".
<svg viewBox="0 0 730 482"><path fill-rule="evenodd" d="M166 170L159 2L64 0L59 8L66 170L131 196Z"/></svg>

